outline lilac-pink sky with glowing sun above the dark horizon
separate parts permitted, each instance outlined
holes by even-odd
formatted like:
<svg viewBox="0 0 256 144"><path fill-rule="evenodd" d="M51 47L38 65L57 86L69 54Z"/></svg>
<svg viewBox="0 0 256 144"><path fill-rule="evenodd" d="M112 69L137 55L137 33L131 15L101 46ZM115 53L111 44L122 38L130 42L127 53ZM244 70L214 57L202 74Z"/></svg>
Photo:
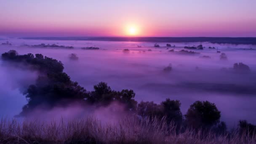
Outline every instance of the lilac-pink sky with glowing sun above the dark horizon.
<svg viewBox="0 0 256 144"><path fill-rule="evenodd" d="M256 37L256 0L0 0L0 36Z"/></svg>

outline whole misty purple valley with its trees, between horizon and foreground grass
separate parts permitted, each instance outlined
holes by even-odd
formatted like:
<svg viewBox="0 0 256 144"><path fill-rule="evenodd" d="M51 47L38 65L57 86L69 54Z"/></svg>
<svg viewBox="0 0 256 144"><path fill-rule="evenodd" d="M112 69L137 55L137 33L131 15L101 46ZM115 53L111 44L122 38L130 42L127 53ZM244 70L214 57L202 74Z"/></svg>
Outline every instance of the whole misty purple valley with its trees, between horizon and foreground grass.
<svg viewBox="0 0 256 144"><path fill-rule="evenodd" d="M0 40L1 117L164 121L172 132L216 134L256 128L256 45L9 41Z"/></svg>

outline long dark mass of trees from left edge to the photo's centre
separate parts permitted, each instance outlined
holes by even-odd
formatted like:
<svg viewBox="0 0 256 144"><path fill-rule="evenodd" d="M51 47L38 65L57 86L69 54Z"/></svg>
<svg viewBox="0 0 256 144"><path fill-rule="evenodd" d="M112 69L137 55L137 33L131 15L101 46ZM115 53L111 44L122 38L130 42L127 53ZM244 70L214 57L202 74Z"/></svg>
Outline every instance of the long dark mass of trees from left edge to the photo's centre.
<svg viewBox="0 0 256 144"><path fill-rule="evenodd" d="M18 55L14 50L3 53L2 59L29 64L33 69L41 72L35 85L30 85L24 92L28 104L23 107L21 116L32 112L38 106L51 109L57 104L65 106L74 101L104 105L118 101L125 104L129 110L136 109L137 102L133 99L135 93L132 90L112 91L107 83L101 82L94 86L94 91L87 92L77 82L70 80L70 77L63 72L63 64L56 59L43 57L42 54L36 54L36 57L32 53Z"/></svg>

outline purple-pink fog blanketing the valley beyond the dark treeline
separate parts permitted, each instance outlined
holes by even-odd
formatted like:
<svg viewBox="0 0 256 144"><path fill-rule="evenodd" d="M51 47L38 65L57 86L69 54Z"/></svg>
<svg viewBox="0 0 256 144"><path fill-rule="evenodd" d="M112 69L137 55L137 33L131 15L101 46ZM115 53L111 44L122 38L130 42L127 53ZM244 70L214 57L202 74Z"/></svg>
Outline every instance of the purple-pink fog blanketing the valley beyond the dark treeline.
<svg viewBox="0 0 256 144"><path fill-rule="evenodd" d="M0 53L16 50L19 54L41 53L62 61L64 72L71 80L77 81L86 90L93 90L93 85L103 81L117 91L132 89L136 101L155 101L160 103L166 98L181 101L181 112L186 114L189 106L197 101L211 101L221 111L221 120L229 127L237 125L238 120L245 119L256 124L256 45L232 45L213 43L166 43L149 42L107 42L107 41L74 41L74 40L23 40L10 39L12 45L0 45ZM5 40L0 40L4 43ZM57 44L73 46L65 48L35 48L24 45ZM202 44L200 54L179 52L184 46ZM139 46L141 47L139 47ZM99 50L82 50L82 47L99 47ZM217 49L209 49L208 47ZM168 48L168 49L167 49ZM123 51L129 49L129 51ZM148 51L151 49L152 51ZM227 60L221 60L221 53ZM75 53L78 60L69 59ZM210 58L201 58L210 56ZM235 72L233 64L246 64L251 72ZM24 88L35 83L37 72L0 61L0 115L13 116L21 112L26 104L22 95ZM171 64L171 71L163 69ZM223 69L227 68L227 69ZM121 106L120 106L121 107ZM64 109L72 113L78 108ZM65 115L61 109L54 115ZM98 111L97 113L104 110ZM42 112L38 112L42 113ZM51 112L50 112L51 113ZM107 113L107 112L105 112ZM98 116L100 116L99 114Z"/></svg>

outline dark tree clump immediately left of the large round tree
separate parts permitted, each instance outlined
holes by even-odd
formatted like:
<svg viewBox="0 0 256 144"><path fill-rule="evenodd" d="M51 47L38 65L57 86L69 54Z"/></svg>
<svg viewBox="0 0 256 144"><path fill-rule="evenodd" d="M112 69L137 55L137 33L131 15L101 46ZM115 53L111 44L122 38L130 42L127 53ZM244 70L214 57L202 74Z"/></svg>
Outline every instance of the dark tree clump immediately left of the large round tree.
<svg viewBox="0 0 256 144"><path fill-rule="evenodd" d="M167 123L172 121L177 125L182 123L182 114L180 111L181 103L178 100L166 99L161 104L155 104L153 101L141 101L138 104L138 115L142 117L162 119L166 118Z"/></svg>

